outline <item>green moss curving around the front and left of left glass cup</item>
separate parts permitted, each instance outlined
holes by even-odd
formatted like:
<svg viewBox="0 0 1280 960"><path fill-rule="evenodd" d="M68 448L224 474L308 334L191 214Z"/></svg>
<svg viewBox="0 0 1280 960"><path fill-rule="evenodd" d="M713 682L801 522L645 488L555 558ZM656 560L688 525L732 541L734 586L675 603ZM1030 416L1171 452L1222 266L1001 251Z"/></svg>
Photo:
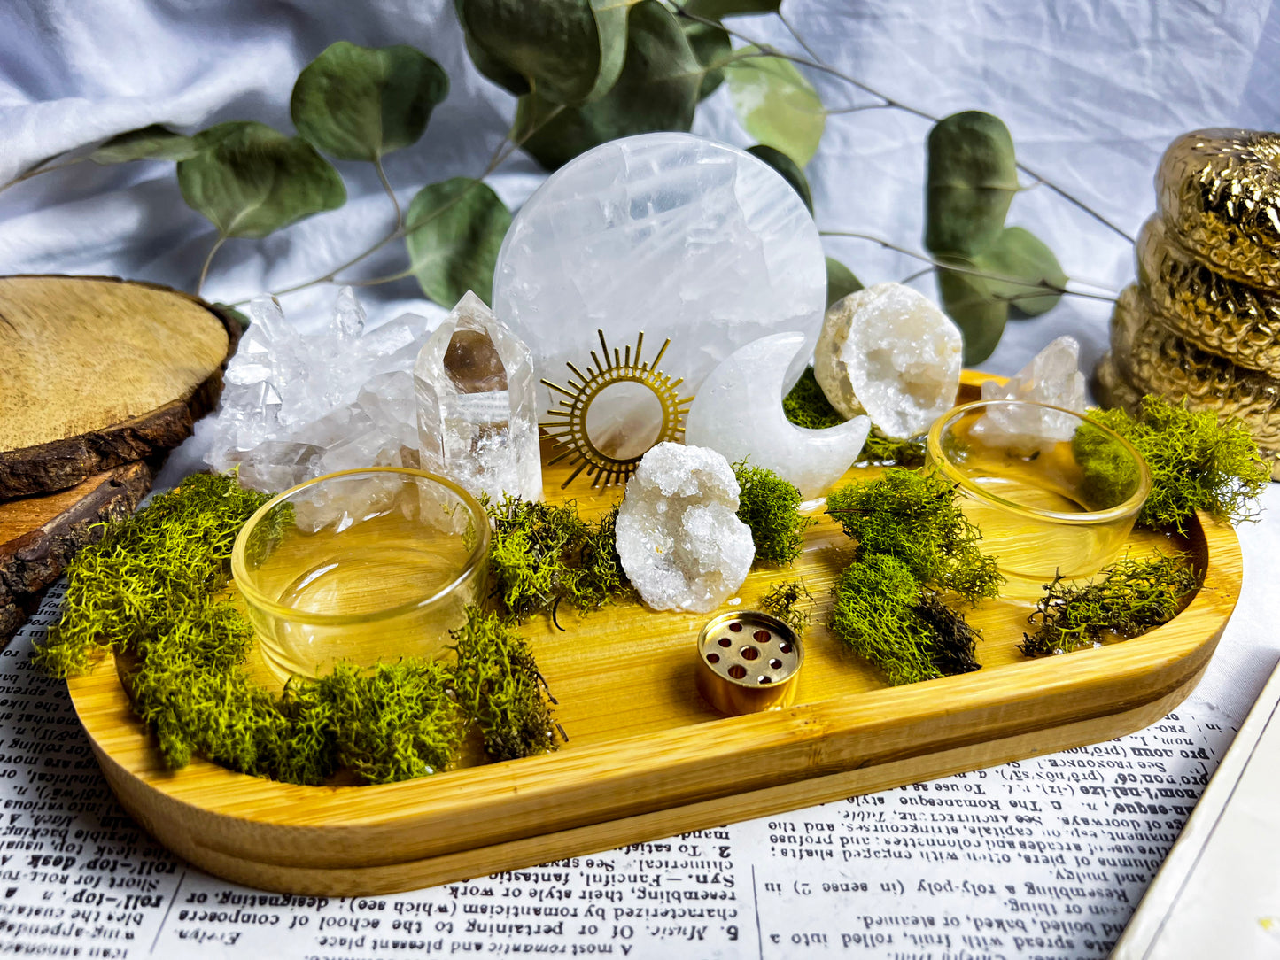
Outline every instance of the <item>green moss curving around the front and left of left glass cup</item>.
<svg viewBox="0 0 1280 960"><path fill-rule="evenodd" d="M339 664L326 677L291 682L283 696L255 685L243 668L252 627L219 591L236 534L265 500L230 477L201 475L111 526L68 567L63 617L37 660L67 676L96 652L127 654L133 709L173 769L200 754L291 783L321 783L338 768L384 783L448 767L467 724L485 728L493 714L511 728L545 727L545 704L508 694L538 689L540 676L507 631L474 630L456 668L420 659L372 671ZM460 696L476 676L500 682ZM549 744L508 739L502 759L525 746Z"/></svg>

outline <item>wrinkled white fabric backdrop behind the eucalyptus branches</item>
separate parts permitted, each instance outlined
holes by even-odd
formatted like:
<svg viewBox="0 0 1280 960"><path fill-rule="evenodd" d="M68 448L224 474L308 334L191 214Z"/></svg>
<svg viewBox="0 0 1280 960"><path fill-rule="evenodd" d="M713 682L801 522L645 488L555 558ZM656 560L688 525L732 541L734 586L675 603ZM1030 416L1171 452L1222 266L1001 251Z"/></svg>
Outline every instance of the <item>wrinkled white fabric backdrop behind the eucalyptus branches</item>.
<svg viewBox="0 0 1280 960"><path fill-rule="evenodd" d="M824 60L902 102L936 115L1000 115L1024 163L1130 234L1153 209L1152 173L1174 136L1212 125L1280 127L1280 5L1265 0L787 0L785 13ZM788 42L772 18L733 26ZM424 183L483 169L515 101L471 67L445 0L6 0L0 182L50 154L148 123L197 129L256 119L289 129L294 77L335 40L411 44L449 74L452 92L425 138L388 159L402 201ZM838 81L814 81L828 105L865 102ZM695 132L750 142L723 90L699 108ZM819 225L919 247L927 132L925 122L893 110L832 116L808 168ZM239 301L280 289L379 238L390 212L372 170L339 168L351 193L346 207L266 241L229 242L205 294ZM515 207L541 178L517 155L490 182ZM1112 291L1132 276L1132 246L1043 187L1015 200L1010 221L1044 238L1069 274ZM191 289L212 236L182 204L169 164L81 164L0 193L0 273L114 274ZM916 269L858 241L829 241L828 252L867 283ZM401 265L398 252L387 251L365 269L375 275ZM932 292L931 280L922 287ZM334 293L315 288L284 306L306 325L323 319ZM411 302L439 312L413 302L412 280L364 296L374 320ZM1082 340L1088 367L1105 349L1107 314L1106 303L1069 300L1012 324L984 367L1014 372L1061 333ZM196 462L191 444L184 453L183 465ZM1280 490L1266 502L1272 516L1240 531L1245 591L1202 687L1236 717L1280 646L1267 630L1265 596L1265 585L1280 580Z"/></svg>

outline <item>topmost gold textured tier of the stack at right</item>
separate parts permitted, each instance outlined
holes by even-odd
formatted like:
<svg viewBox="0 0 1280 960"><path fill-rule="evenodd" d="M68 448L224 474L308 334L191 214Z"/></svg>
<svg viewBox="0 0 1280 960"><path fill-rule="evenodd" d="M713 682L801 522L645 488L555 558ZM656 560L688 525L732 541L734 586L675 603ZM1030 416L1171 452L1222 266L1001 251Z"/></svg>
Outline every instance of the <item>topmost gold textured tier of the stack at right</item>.
<svg viewBox="0 0 1280 960"><path fill-rule="evenodd" d="M1219 273L1280 288L1280 134L1193 131L1156 173L1160 214Z"/></svg>

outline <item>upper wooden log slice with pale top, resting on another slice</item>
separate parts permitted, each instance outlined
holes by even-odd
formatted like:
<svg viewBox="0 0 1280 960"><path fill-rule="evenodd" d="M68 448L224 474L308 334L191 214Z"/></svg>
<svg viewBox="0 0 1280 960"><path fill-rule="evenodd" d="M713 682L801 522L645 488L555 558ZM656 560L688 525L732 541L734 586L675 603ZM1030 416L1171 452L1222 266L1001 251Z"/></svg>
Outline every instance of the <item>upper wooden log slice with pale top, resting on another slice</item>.
<svg viewBox="0 0 1280 960"><path fill-rule="evenodd" d="M239 324L102 276L0 276L0 499L182 443L218 402Z"/></svg>

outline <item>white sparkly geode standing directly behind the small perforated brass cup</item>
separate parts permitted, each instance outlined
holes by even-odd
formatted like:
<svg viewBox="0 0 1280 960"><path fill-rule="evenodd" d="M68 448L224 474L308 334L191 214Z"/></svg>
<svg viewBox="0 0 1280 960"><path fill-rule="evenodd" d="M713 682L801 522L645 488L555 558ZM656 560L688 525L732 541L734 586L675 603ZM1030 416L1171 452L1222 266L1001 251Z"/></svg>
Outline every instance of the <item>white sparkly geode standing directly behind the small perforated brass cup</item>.
<svg viewBox="0 0 1280 960"><path fill-rule="evenodd" d="M618 508L617 549L649 607L707 613L742 585L755 547L740 493L716 451L659 443L644 454Z"/></svg>

